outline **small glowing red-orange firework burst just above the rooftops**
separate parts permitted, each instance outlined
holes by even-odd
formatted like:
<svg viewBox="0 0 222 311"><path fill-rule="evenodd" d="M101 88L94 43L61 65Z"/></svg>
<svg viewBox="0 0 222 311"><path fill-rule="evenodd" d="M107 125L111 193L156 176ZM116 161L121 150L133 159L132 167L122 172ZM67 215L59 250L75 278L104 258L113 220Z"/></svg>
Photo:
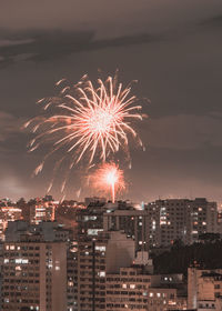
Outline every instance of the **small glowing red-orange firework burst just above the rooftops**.
<svg viewBox="0 0 222 311"><path fill-rule="evenodd" d="M89 183L97 191L104 193L110 192L112 202L115 201L118 192L125 189L123 171L119 165L111 163L102 163L89 178Z"/></svg>

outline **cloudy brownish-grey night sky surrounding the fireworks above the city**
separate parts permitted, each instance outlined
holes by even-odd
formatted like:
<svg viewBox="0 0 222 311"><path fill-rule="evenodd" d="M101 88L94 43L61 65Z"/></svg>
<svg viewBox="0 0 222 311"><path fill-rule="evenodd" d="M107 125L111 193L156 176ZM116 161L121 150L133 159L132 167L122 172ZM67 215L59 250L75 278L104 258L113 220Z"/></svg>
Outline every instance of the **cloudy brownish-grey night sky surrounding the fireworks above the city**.
<svg viewBox="0 0 222 311"><path fill-rule="evenodd" d="M0 0L0 198L46 193L53 163L31 178L43 150L28 153L21 130L36 101L63 77L117 68L151 100L122 198L222 201L221 0ZM93 194L81 184L73 171L68 197Z"/></svg>

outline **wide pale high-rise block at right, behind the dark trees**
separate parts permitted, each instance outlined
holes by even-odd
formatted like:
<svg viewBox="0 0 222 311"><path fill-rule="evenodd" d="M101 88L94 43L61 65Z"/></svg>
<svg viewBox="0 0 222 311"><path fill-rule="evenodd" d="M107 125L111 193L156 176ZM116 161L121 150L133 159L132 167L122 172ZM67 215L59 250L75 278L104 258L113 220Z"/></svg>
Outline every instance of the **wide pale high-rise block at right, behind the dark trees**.
<svg viewBox="0 0 222 311"><path fill-rule="evenodd" d="M192 244L199 234L219 231L216 203L206 199L158 200L149 203L145 210L151 247L168 247L175 240Z"/></svg>

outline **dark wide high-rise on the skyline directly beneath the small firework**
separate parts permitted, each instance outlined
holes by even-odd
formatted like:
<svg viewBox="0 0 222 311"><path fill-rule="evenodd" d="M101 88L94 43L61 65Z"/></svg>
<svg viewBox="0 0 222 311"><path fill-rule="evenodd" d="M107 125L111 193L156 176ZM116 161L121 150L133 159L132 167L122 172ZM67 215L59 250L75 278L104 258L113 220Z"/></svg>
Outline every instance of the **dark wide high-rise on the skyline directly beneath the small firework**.
<svg viewBox="0 0 222 311"><path fill-rule="evenodd" d="M91 202L77 214L79 234L98 235L101 231L124 231L135 241L135 251L149 249L148 212L129 202Z"/></svg>

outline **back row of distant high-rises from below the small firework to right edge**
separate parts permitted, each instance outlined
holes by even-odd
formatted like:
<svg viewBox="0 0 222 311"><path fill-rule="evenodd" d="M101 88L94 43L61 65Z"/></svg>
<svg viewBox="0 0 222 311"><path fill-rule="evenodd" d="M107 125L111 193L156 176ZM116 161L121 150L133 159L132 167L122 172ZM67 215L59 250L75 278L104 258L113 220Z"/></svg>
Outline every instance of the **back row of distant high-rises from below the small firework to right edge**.
<svg viewBox="0 0 222 311"><path fill-rule="evenodd" d="M135 241L137 250L168 248L180 240L192 244L201 233L222 233L215 202L205 199L158 200L143 207L128 202L92 202L78 212L79 234L101 230L123 230Z"/></svg>

